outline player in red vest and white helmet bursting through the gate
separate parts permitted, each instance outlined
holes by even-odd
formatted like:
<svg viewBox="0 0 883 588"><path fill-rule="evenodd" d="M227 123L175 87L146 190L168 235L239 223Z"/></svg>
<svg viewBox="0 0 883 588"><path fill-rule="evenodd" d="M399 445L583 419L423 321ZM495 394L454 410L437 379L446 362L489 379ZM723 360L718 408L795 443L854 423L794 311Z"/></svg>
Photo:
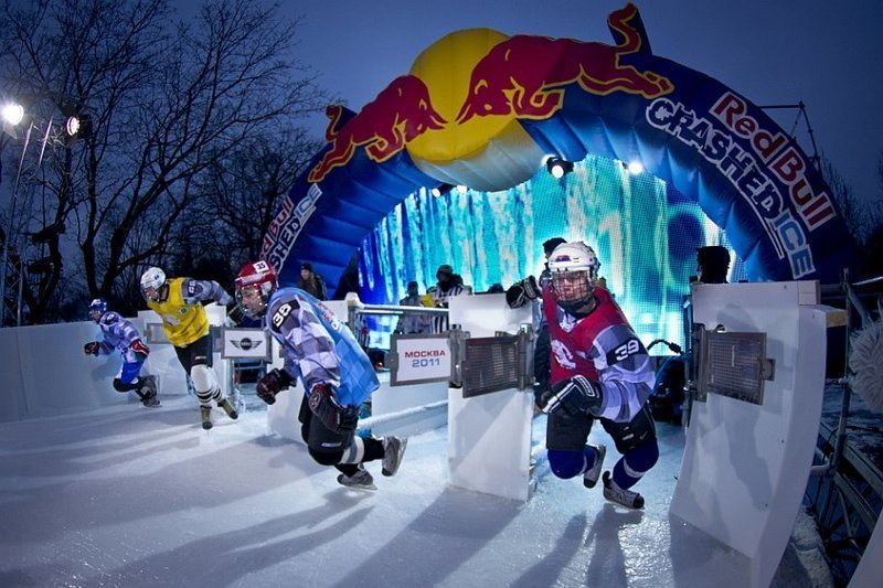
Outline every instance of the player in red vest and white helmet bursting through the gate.
<svg viewBox="0 0 883 588"><path fill-rule="evenodd" d="M598 286L595 252L582 242L555 247L552 282L542 290L551 341L551 388L540 398L547 413L549 466L558 478L583 475L594 488L606 447L586 443L595 419L621 458L604 472L604 498L629 509L643 496L629 490L659 459L656 426L647 399L653 389L650 357L625 314ZM535 290L525 285L526 302Z"/></svg>

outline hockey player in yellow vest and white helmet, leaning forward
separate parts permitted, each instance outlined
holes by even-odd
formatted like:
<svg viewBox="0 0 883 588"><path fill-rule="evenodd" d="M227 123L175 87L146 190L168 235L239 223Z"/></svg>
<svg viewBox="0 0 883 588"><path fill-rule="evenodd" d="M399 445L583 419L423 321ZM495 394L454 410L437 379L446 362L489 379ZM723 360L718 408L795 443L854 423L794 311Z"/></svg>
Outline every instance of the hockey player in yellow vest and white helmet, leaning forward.
<svg viewBox="0 0 883 588"><path fill-rule="evenodd" d="M151 267L141 275L141 293L150 310L162 319L166 336L174 345L178 361L196 391L202 416L202 428L212 428L212 400L230 418L238 418L236 409L227 402L212 367L212 339L209 318L200 303L214 300L226 306L233 298L216 281L193 278L166 279L166 272Z"/></svg>

